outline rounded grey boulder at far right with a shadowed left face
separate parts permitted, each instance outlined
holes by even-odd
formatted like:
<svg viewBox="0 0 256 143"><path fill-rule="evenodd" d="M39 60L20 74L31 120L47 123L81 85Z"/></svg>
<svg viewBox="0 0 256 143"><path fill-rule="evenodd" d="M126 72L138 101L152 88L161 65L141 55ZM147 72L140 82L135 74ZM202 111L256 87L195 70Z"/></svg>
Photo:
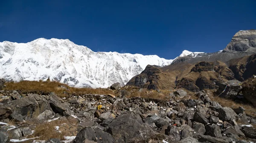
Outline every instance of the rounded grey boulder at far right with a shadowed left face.
<svg viewBox="0 0 256 143"><path fill-rule="evenodd" d="M218 109L218 118L222 121L231 121L232 119L236 120L236 112L229 107L221 107Z"/></svg>

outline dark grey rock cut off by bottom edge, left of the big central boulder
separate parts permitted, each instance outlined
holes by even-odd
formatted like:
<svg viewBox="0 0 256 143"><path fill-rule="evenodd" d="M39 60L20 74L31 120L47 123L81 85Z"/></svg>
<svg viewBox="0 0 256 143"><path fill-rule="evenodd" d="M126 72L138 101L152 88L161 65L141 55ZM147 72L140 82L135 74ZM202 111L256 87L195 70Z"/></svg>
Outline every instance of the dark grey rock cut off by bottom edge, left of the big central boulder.
<svg viewBox="0 0 256 143"><path fill-rule="evenodd" d="M73 143L115 143L113 137L98 128L85 127L76 135Z"/></svg>

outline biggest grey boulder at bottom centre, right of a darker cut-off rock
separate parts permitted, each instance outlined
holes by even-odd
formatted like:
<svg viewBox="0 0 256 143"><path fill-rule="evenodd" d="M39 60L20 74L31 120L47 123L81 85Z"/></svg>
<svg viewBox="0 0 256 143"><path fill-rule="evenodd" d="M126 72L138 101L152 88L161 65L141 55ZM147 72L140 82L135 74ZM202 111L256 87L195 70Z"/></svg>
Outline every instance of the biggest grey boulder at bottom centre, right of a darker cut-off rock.
<svg viewBox="0 0 256 143"><path fill-rule="evenodd" d="M127 143L135 137L144 138L153 132L147 123L143 123L140 115L133 113L121 115L108 127L116 143Z"/></svg>

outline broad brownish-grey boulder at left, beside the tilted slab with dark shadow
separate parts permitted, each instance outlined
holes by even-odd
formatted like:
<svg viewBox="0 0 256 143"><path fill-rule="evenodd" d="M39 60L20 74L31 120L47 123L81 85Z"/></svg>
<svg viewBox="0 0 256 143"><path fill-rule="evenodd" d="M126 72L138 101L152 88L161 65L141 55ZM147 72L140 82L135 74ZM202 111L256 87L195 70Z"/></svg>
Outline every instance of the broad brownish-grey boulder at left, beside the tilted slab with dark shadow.
<svg viewBox="0 0 256 143"><path fill-rule="evenodd" d="M12 101L6 105L12 109L11 118L17 121L24 121L28 118L37 118L45 110L52 111L50 104L45 98L37 94L30 94L26 97Z"/></svg>

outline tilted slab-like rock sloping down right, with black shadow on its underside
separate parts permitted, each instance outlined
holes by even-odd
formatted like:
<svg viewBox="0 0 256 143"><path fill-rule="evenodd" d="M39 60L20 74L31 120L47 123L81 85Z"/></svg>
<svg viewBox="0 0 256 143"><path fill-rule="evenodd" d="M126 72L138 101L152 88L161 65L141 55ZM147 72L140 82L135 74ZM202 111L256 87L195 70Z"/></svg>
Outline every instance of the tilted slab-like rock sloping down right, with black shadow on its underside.
<svg viewBox="0 0 256 143"><path fill-rule="evenodd" d="M55 93L50 93L48 98L49 104L53 110L53 112L58 113L60 115L70 116L71 109L67 103L65 103L60 97L55 95Z"/></svg>

